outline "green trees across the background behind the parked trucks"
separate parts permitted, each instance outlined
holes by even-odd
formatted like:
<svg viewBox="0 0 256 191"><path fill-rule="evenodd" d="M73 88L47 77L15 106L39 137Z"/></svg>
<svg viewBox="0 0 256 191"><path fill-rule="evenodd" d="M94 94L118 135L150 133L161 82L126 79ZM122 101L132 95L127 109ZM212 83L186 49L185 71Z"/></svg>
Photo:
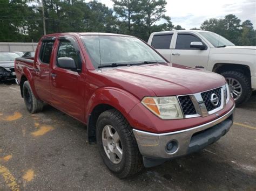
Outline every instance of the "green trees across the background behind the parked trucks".
<svg viewBox="0 0 256 191"><path fill-rule="evenodd" d="M185 30L166 16L166 0L112 0L113 9L83 0L44 0L46 33L111 32L147 40L157 31ZM0 0L0 41L38 41L43 36L42 6L25 0ZM235 15L211 18L200 29L224 36L236 45L256 45L250 20Z"/></svg>

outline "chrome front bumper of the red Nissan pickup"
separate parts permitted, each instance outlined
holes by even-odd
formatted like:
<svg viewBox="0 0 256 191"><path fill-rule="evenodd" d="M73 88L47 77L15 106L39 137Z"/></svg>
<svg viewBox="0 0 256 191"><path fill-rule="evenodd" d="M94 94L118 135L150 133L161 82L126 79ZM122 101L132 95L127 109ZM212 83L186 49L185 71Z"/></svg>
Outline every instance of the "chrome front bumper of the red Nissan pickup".
<svg viewBox="0 0 256 191"><path fill-rule="evenodd" d="M227 112L227 114L203 125L195 126L194 128L174 131L169 133L151 133L133 129L134 136L136 137L137 144L140 153L145 157L152 158L173 158L181 155L185 155L188 150L188 145L190 144L190 139L194 133L203 131L205 129L211 128L223 122L225 119L230 117L234 112L235 106ZM166 152L166 144L171 140L176 140L178 142L178 149L175 153Z"/></svg>

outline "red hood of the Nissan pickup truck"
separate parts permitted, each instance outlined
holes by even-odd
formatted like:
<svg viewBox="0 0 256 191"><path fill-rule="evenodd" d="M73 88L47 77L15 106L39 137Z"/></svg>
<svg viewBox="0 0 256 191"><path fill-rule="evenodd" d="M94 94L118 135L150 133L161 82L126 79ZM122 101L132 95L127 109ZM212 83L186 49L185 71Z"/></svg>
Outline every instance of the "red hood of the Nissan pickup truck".
<svg viewBox="0 0 256 191"><path fill-rule="evenodd" d="M138 89L147 89L153 91L156 96L194 94L226 83L224 77L216 73L161 64L105 68L102 73L113 77L119 86L133 94L137 94L133 91Z"/></svg>

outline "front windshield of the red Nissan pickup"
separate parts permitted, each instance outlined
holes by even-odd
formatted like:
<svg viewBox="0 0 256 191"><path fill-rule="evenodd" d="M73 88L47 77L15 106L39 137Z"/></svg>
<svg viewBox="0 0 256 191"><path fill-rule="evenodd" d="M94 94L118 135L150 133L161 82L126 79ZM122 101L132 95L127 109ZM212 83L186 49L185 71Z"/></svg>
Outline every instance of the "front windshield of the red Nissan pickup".
<svg viewBox="0 0 256 191"><path fill-rule="evenodd" d="M134 37L82 36L95 68L166 62L151 47Z"/></svg>

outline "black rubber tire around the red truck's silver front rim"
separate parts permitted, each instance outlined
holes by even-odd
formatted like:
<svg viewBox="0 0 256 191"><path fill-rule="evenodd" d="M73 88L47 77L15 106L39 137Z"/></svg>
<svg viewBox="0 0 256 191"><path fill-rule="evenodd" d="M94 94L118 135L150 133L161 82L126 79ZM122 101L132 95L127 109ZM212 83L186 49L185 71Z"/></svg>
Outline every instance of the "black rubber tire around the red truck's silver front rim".
<svg viewBox="0 0 256 191"><path fill-rule="evenodd" d="M120 137L123 157L118 164L114 164L106 155L102 142L102 132L106 125L113 126ZM100 155L102 155L105 165L118 178L127 178L140 172L143 168L142 155L133 135L132 128L124 116L115 109L104 111L100 114L96 125L96 138Z"/></svg>

